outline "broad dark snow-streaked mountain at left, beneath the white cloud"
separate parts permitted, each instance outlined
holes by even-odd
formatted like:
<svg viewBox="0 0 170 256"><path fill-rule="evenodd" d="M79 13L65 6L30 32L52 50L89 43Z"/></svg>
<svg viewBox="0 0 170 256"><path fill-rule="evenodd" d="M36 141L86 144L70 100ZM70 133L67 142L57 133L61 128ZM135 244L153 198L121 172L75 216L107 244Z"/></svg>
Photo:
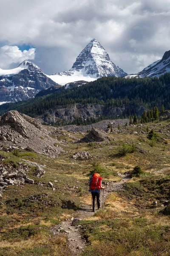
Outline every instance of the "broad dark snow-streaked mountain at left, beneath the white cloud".
<svg viewBox="0 0 170 256"><path fill-rule="evenodd" d="M57 85L34 63L23 61L17 68L0 69L0 102L17 102L34 97L40 90Z"/></svg>

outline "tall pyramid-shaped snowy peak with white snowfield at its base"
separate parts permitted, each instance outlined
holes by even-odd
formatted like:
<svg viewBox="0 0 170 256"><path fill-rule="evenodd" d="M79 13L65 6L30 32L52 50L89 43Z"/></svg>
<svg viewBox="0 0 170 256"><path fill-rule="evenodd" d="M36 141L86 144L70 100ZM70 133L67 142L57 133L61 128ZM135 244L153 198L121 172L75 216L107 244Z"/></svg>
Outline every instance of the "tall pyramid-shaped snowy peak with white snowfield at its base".
<svg viewBox="0 0 170 256"><path fill-rule="evenodd" d="M103 76L120 77L126 75L127 73L111 61L99 41L92 39L80 52L70 70L55 73L48 77L58 84L65 85L79 80L94 81Z"/></svg>

